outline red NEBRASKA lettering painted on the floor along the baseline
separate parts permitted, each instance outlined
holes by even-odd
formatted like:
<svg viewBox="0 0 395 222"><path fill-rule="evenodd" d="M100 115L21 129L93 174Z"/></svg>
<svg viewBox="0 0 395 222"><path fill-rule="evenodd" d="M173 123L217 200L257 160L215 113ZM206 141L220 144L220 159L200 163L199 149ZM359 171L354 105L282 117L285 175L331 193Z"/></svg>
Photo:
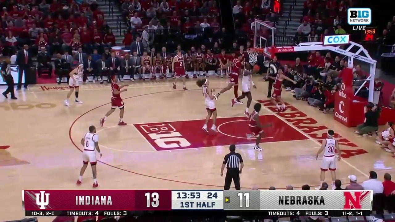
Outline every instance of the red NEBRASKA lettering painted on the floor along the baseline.
<svg viewBox="0 0 395 222"><path fill-rule="evenodd" d="M273 112L275 112L277 109L270 100L258 100L258 102L262 103L263 106L267 107ZM282 117L286 122L289 122L301 132L307 134L312 139L320 143L327 138L327 131L329 130L327 126L319 124L317 120L308 117L305 113L293 107L289 103L286 103L286 105L286 112L278 113L278 116ZM352 156L367 153L367 151L365 151L364 149L357 149L358 146L355 143L352 143L340 134L335 133L334 137L337 139L337 141L339 141L339 145L342 146L342 158L350 158Z"/></svg>

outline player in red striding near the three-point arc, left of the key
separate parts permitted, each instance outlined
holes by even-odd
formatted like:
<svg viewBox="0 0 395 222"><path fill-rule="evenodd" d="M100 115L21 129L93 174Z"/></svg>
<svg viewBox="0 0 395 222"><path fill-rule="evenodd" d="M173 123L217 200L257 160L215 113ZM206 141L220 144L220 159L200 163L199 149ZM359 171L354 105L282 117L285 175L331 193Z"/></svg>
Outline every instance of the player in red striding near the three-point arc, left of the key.
<svg viewBox="0 0 395 222"><path fill-rule="evenodd" d="M111 96L111 109L105 114L105 116L100 119L100 126L103 126L104 121L107 119L107 117L109 117L109 115L111 115L111 113L113 113L115 111L115 108L119 108L119 122L118 125L119 126L125 126L127 125L124 121L123 121L123 115L124 115L124 103L123 100L121 99L121 93L122 92L126 92L128 91L127 88L122 89L123 87L127 87L129 85L118 85L117 83L118 78L116 75L113 75L111 77L111 92L112 92L112 96Z"/></svg>

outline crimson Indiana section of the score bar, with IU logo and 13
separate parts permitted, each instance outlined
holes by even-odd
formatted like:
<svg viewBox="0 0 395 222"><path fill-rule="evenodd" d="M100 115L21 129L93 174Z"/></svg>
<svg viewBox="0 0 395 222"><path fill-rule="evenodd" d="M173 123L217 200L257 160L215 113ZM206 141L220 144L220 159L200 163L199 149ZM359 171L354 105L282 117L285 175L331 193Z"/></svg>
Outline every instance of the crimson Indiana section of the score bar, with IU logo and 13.
<svg viewBox="0 0 395 222"><path fill-rule="evenodd" d="M171 190L24 190L23 202L25 211L171 210Z"/></svg>

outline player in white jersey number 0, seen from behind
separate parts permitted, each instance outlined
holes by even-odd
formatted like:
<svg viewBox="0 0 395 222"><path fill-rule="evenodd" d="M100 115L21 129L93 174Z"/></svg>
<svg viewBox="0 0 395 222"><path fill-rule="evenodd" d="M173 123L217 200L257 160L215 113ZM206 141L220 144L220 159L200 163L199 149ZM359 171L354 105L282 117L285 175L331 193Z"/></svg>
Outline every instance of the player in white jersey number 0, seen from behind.
<svg viewBox="0 0 395 222"><path fill-rule="evenodd" d="M88 163L90 163L90 166L92 167L92 174L93 174L93 188L96 188L99 186L98 181L96 179L96 151L99 153L99 156L102 157L102 153L100 153L100 148L99 148L99 137L96 134L96 127L95 126L89 126L89 132L84 135L84 137L81 139L81 144L84 147L84 150L82 152L82 162L83 166L81 168L81 171L79 171L79 178L77 181L77 185L80 185L82 183L82 176L85 173L85 170L88 167Z"/></svg>

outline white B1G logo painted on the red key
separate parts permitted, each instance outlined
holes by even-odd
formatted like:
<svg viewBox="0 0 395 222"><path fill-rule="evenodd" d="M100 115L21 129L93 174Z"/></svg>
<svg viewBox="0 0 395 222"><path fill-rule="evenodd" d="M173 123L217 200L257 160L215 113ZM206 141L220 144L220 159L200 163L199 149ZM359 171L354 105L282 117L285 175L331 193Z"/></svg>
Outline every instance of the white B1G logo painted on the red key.
<svg viewBox="0 0 395 222"><path fill-rule="evenodd" d="M191 145L170 123L154 123L139 127L161 148L174 149Z"/></svg>

